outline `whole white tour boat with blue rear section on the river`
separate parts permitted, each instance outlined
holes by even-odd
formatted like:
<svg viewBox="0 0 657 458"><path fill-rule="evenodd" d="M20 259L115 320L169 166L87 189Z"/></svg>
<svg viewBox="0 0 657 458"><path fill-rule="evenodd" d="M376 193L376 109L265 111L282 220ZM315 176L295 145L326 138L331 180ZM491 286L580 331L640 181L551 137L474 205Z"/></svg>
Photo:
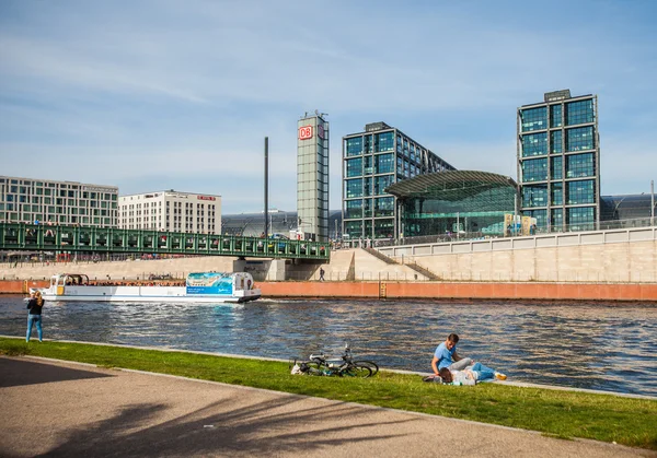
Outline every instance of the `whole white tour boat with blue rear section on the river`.
<svg viewBox="0 0 657 458"><path fill-rule="evenodd" d="M169 283L169 284L168 284ZM46 301L78 302L159 302L159 303L242 303L255 301L261 290L246 272L189 273L183 284L103 284L81 273L58 273L50 278L50 286L31 289L41 291Z"/></svg>

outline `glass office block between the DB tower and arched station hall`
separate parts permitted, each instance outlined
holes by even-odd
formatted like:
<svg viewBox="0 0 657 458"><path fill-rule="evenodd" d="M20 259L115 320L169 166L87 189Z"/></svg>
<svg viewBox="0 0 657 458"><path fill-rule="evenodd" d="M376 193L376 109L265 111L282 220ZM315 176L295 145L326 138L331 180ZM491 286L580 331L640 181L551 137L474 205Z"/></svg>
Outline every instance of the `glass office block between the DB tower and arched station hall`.
<svg viewBox="0 0 657 458"><path fill-rule="evenodd" d="M343 137L343 237L399 238L393 183L434 172L456 171L431 151L385 122Z"/></svg>

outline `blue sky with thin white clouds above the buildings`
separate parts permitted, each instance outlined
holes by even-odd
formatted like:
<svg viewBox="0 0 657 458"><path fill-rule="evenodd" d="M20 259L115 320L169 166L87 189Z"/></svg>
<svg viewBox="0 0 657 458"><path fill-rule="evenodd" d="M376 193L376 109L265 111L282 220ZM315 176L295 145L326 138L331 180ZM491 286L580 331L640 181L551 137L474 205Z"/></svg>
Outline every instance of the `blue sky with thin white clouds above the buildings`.
<svg viewBox="0 0 657 458"><path fill-rule="evenodd" d="M653 0L0 0L0 175L297 209L297 121L384 121L516 179L516 113L597 94L602 195L657 179Z"/></svg>

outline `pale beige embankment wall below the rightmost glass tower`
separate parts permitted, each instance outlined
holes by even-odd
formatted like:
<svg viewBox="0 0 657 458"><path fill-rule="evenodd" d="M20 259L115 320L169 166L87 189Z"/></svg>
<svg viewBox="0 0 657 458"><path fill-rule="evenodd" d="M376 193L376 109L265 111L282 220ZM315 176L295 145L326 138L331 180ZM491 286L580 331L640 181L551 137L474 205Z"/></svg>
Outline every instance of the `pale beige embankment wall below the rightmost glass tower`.
<svg viewBox="0 0 657 458"><path fill-rule="evenodd" d="M466 240L380 251L443 281L657 283L657 228Z"/></svg>

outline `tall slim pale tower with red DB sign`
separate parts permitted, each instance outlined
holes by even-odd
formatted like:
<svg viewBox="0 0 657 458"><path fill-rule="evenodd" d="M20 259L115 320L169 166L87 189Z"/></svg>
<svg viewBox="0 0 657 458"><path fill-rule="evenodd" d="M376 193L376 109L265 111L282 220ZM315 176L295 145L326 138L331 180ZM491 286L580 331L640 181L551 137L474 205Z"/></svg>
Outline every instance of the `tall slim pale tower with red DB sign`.
<svg viewBox="0 0 657 458"><path fill-rule="evenodd" d="M328 122L308 113L297 126L298 230L304 238L328 239Z"/></svg>

